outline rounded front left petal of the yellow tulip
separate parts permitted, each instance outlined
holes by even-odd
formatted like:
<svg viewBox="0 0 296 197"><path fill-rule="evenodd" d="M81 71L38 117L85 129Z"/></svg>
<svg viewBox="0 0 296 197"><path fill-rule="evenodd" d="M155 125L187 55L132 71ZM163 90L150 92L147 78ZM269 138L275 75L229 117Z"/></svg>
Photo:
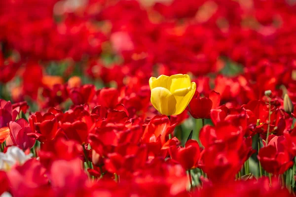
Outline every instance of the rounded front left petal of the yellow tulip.
<svg viewBox="0 0 296 197"><path fill-rule="evenodd" d="M151 103L163 115L170 116L176 111L177 101L166 88L156 87L151 90Z"/></svg>

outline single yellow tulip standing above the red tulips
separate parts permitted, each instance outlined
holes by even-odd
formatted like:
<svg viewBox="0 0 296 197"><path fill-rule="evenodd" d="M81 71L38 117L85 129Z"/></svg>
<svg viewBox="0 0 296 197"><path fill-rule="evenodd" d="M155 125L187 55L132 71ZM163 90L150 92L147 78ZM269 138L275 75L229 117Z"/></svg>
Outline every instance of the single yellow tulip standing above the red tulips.
<svg viewBox="0 0 296 197"><path fill-rule="evenodd" d="M150 77L151 103L163 115L181 114L192 99L196 84L187 74Z"/></svg>

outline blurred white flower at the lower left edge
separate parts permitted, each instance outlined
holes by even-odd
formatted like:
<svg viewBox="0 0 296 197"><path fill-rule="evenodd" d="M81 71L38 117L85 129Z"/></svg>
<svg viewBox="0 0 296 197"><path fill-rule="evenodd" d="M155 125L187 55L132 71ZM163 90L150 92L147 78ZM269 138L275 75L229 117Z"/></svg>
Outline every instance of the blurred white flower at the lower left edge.
<svg viewBox="0 0 296 197"><path fill-rule="evenodd" d="M7 148L6 153L0 153L0 169L10 170L15 164L22 165L27 160L31 159L32 154L26 155L17 146L10 146Z"/></svg>

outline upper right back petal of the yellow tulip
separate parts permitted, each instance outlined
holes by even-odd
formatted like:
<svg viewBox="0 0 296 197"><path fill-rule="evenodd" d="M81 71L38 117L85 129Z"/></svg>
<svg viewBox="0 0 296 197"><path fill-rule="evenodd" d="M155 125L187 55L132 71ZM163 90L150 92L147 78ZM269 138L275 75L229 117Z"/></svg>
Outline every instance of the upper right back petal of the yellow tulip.
<svg viewBox="0 0 296 197"><path fill-rule="evenodd" d="M170 76L167 80L167 89L170 90L171 93L189 87L191 87L191 79L187 74L175 74Z"/></svg>

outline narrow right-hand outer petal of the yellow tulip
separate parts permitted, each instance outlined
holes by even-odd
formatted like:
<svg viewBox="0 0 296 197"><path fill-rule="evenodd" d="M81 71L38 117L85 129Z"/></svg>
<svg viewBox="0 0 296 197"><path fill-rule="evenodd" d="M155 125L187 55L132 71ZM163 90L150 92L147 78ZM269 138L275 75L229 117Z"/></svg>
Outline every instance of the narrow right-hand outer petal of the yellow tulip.
<svg viewBox="0 0 296 197"><path fill-rule="evenodd" d="M190 91L185 96L180 97L180 96L174 95L175 99L177 100L177 105L176 105L176 112L173 115L181 114L189 104L196 90L195 82L192 82L190 87L191 87Z"/></svg>

